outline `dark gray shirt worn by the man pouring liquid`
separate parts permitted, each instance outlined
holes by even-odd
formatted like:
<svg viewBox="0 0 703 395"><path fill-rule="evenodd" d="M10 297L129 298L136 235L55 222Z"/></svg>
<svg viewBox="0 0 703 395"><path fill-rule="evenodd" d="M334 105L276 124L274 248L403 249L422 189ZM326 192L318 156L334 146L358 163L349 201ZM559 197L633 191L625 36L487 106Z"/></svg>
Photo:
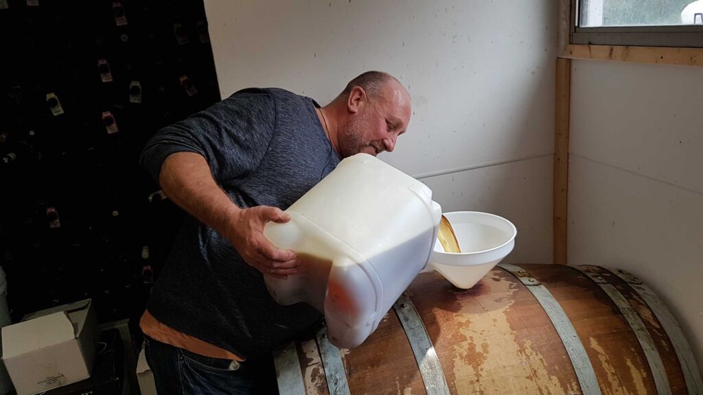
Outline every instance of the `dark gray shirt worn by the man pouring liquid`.
<svg viewBox="0 0 703 395"><path fill-rule="evenodd" d="M283 89L245 89L161 129L141 164L158 181L162 162L199 153L239 207L286 209L340 162L311 98ZM271 351L321 315L307 304L280 306L262 274L231 243L186 216L147 304L160 322L250 357Z"/></svg>

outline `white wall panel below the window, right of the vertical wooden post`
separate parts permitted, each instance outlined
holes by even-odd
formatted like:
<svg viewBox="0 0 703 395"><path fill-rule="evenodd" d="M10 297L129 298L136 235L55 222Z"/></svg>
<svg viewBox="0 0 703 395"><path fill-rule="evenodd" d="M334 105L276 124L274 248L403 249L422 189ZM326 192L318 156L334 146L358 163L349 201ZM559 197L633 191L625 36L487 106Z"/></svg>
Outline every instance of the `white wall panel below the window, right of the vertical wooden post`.
<svg viewBox="0 0 703 395"><path fill-rule="evenodd" d="M569 264L624 268L703 367L703 68L572 61Z"/></svg>

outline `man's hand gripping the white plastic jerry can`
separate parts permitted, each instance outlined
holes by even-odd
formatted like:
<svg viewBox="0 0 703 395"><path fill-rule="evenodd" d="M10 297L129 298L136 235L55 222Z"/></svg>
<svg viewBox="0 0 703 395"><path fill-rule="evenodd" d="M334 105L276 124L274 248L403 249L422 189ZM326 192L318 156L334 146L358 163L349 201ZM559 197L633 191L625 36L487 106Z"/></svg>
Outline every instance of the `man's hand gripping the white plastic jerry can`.
<svg viewBox="0 0 703 395"><path fill-rule="evenodd" d="M264 237L264 226L269 221L285 224L290 215L269 206L238 209L227 221L226 237L244 261L258 271L276 278L297 274L300 263L295 252L280 250Z"/></svg>

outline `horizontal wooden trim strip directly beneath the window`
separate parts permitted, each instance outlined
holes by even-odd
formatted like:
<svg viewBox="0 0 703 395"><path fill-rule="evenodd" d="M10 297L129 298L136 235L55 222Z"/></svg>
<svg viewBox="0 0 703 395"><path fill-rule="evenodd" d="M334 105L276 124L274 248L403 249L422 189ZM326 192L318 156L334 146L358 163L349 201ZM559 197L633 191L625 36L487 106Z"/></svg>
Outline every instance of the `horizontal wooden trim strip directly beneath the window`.
<svg viewBox="0 0 703 395"><path fill-rule="evenodd" d="M562 51L560 58L703 66L703 48L567 45Z"/></svg>

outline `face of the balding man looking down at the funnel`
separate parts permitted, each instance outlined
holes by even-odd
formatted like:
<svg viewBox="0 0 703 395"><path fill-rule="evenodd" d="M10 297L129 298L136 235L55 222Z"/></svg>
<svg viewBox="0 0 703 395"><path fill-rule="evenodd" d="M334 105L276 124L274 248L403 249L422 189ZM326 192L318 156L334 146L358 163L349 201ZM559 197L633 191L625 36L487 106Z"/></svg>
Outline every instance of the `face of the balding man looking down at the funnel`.
<svg viewBox="0 0 703 395"><path fill-rule="evenodd" d="M359 111L342 125L339 136L342 157L392 152L398 136L405 133L410 117L408 93L397 82L387 83L378 97L366 96Z"/></svg>

